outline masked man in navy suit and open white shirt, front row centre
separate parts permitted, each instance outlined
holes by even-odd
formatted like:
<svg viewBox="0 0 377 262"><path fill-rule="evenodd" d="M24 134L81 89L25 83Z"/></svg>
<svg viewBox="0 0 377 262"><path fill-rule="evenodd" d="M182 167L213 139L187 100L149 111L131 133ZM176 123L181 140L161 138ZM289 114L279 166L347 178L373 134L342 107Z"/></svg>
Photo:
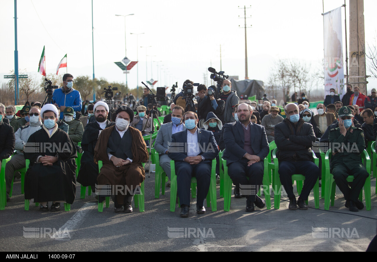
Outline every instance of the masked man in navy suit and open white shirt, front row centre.
<svg viewBox="0 0 377 262"><path fill-rule="evenodd" d="M198 194L196 212L204 214L204 199L208 194L211 179L211 162L219 149L211 131L199 129L198 115L188 111L183 115L186 130L172 135L168 156L175 161L177 190L181 203L181 217L189 216L190 186L195 174Z"/></svg>

